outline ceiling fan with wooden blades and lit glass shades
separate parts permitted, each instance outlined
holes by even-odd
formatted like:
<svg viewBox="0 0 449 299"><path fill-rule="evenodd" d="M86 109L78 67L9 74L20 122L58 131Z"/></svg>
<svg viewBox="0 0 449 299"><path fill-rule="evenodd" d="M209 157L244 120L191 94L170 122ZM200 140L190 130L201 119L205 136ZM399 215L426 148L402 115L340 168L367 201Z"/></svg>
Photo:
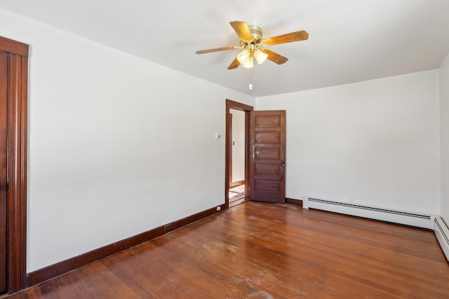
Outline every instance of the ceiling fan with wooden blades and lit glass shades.
<svg viewBox="0 0 449 299"><path fill-rule="evenodd" d="M273 36L268 39L262 39L262 29L255 25L248 26L246 22L233 21L229 22L232 28L239 35L239 46L229 46L222 48L213 48L207 50L196 51L196 54L204 54L211 52L218 52L224 50L242 50L234 61L229 64L227 69L236 69L241 64L242 67L248 69L254 67L254 59L258 64L262 64L265 60L271 60L276 64L286 63L288 58L279 55L278 53L268 50L266 48L259 48L263 46L274 46L280 43L291 43L293 41L304 41L309 38L309 34L304 30L298 32L292 32L289 34L283 34L279 36Z"/></svg>

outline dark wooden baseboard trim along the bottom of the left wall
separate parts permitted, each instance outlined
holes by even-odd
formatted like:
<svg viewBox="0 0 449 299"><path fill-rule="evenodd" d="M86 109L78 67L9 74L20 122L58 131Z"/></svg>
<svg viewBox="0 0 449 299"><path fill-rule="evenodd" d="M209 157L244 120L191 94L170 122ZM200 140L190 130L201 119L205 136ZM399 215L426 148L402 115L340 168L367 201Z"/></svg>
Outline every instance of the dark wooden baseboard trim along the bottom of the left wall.
<svg viewBox="0 0 449 299"><path fill-rule="evenodd" d="M225 208L226 208L225 204L220 204L221 211L223 211ZM166 225L161 225L157 228L153 228L152 230L147 230L146 232L142 232L133 237L122 239L118 242L102 246L98 249L83 253L79 256L75 256L67 260L62 260L59 263L55 263L53 265L49 265L48 267L43 267L42 269L29 272L27 274L27 286L34 286L36 284L40 284L43 281L52 279L53 277L57 277L61 274L82 267L83 265L92 263L95 260L100 260L102 258L106 258L107 256L112 256L115 253L119 253L120 251L129 249L130 247L136 246L143 242L147 242L151 239L154 239L155 237L164 235L172 230L182 228L183 226L188 225L189 223L199 221L200 219L211 216L217 212L218 212L217 207L213 207L205 211L193 214L191 216L187 216L186 218L182 218L180 220L167 223Z"/></svg>

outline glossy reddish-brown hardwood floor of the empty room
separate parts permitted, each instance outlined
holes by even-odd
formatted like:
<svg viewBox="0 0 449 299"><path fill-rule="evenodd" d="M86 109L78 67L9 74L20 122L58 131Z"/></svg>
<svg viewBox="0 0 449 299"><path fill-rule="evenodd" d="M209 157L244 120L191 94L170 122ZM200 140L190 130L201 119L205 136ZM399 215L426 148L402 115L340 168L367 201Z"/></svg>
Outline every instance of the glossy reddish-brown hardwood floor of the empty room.
<svg viewBox="0 0 449 299"><path fill-rule="evenodd" d="M245 202L9 298L449 298L433 232Z"/></svg>

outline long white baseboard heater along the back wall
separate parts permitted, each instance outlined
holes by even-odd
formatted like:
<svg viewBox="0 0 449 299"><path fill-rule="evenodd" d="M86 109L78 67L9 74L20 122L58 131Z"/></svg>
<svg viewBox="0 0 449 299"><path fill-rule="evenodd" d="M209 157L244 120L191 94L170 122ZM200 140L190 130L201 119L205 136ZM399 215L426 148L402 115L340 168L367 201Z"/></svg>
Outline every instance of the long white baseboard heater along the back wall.
<svg viewBox="0 0 449 299"><path fill-rule="evenodd" d="M426 228L428 230L433 229L431 216L429 215L413 214L404 211L393 211L376 207L366 207L358 204L334 202L311 197L303 197L303 202L303 206L309 209L332 211L339 214L410 225L417 228Z"/></svg>

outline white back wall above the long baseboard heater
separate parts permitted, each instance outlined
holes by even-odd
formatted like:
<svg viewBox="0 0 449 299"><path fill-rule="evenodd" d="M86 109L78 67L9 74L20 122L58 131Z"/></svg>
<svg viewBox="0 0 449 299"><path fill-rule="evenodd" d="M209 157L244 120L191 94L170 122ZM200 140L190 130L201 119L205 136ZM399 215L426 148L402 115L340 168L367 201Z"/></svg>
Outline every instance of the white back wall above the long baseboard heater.
<svg viewBox="0 0 449 299"><path fill-rule="evenodd" d="M261 97L256 109L286 110L286 197L439 214L438 70Z"/></svg>

